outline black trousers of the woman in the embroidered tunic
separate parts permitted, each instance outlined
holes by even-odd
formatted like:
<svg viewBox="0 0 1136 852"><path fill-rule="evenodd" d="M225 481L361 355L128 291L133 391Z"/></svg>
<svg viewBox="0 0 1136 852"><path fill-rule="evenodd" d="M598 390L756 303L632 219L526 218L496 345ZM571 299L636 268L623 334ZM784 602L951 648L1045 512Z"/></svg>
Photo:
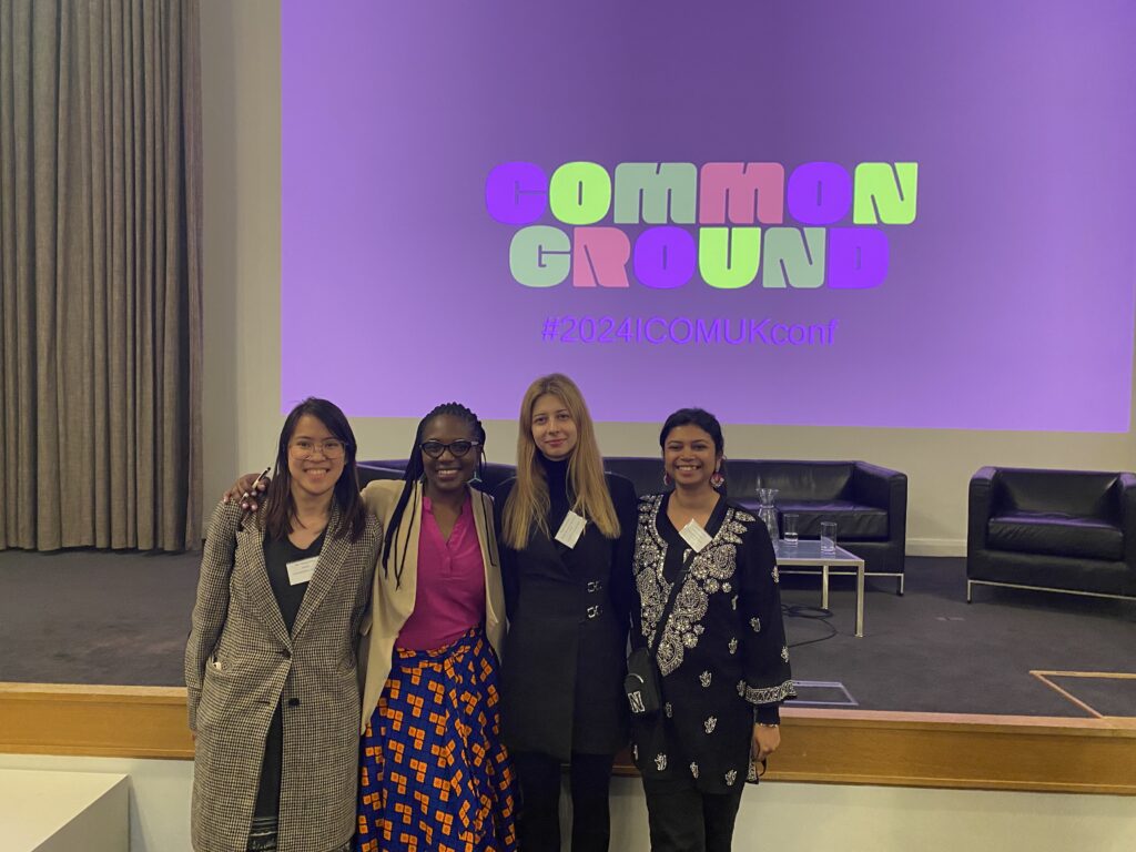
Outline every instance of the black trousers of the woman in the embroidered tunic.
<svg viewBox="0 0 1136 852"><path fill-rule="evenodd" d="M713 794L693 785L644 778L651 852L730 852L742 786Z"/></svg>

